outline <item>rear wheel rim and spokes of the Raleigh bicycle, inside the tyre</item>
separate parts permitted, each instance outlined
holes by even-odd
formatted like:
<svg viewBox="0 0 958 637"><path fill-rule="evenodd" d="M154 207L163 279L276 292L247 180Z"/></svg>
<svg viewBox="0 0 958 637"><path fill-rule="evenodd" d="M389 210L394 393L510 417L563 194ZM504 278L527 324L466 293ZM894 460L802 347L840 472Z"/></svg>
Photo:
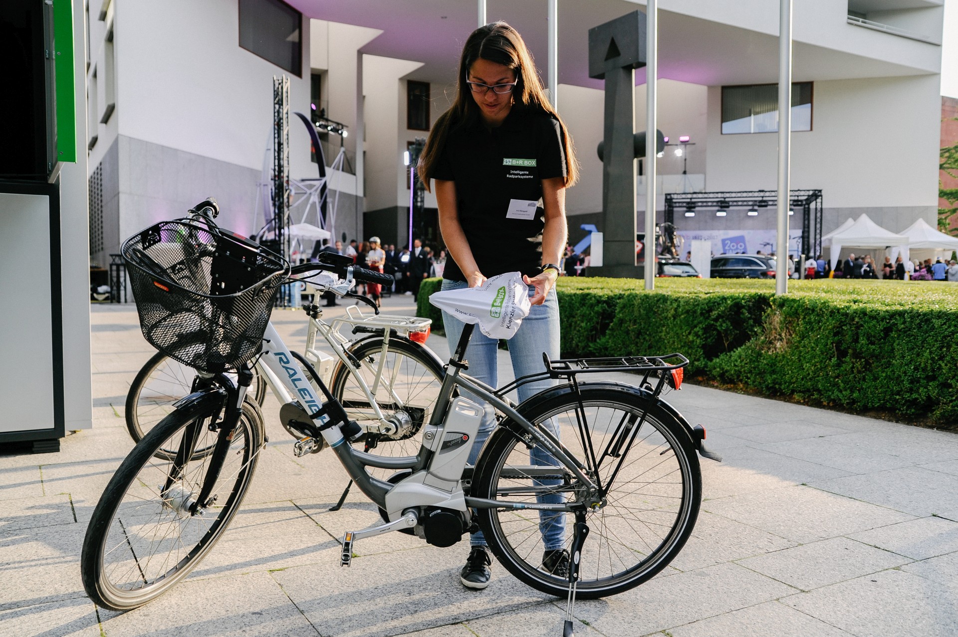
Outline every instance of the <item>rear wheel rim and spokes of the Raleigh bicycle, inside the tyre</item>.
<svg viewBox="0 0 958 637"><path fill-rule="evenodd" d="M558 426L562 443L582 459L586 451L575 408L574 405L559 407L537 421L551 421ZM629 422L637 424L642 416L638 407L603 401L586 401L582 413L592 433L597 458L602 458L610 445L614 448L614 440L623 435ZM546 458L538 455L533 460L530 453L520 440L509 443L493 469L491 496L524 503L574 497L578 480L571 473L564 472L560 480L536 481L523 472L523 467L532 464L553 464L548 461L548 454ZM613 457L600 461L598 473L603 485L617 464L618 458ZM586 514L589 535L582 547L579 588L600 590L647 579L661 570L680 548L678 542L684 541L683 529L694 520L692 485L688 458L679 442L669 428L648 414L631 447L627 448L622 469L606 496L606 504ZM559 520L564 524L560 534L555 531ZM574 522L575 516L571 513L540 515L536 511L505 509L490 512L492 532L508 557L529 576L561 587L567 585L565 578L540 570L546 548L541 529L547 534L552 529L559 537L560 548L569 550Z"/></svg>

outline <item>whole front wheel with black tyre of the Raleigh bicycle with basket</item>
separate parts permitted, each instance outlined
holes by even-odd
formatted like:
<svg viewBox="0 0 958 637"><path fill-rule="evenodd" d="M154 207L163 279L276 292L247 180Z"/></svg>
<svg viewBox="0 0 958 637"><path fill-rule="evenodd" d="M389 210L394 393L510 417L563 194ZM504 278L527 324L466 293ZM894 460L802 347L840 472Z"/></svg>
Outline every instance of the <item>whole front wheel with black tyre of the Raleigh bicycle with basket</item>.
<svg viewBox="0 0 958 637"><path fill-rule="evenodd" d="M202 515L190 515L184 503L198 494L205 476L206 456L199 461L188 461L182 476L166 494L159 493L163 491L162 486L155 489L148 486L157 480L160 485L165 484L170 467L164 474L163 468L157 465L156 451L169 445L176 436L181 437L188 425L203 419L198 436L217 436L217 432L206 427L205 420L218 411L219 404L219 401L200 401L164 418L129 452L106 485L90 518L80 553L83 588L95 604L125 611L159 597L189 575L236 515L264 445L262 412L250 401L243 402L227 464L216 483L215 494L220 499L204 508ZM234 449L236 453L232 452ZM168 463L172 464L172 461ZM154 497L147 497L150 493ZM157 522L150 525L154 516ZM196 523L191 524L194 520ZM157 540L161 530L163 537ZM174 532L180 535L175 542L168 542L164 558L164 542ZM192 538L196 538L195 541ZM176 555L171 559L173 550ZM183 553L185 557L181 558ZM172 565L168 568L169 564Z"/></svg>

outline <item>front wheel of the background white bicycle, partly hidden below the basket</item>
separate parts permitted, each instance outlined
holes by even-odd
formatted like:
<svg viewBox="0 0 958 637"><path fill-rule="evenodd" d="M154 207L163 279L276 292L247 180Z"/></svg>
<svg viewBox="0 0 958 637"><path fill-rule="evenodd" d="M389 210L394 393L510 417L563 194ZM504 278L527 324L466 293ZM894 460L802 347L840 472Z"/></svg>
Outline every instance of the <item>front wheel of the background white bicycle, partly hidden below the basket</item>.
<svg viewBox="0 0 958 637"><path fill-rule="evenodd" d="M147 432L173 410L176 401L190 394L194 376L193 369L172 360L163 352L156 352L149 358L126 392L126 430L133 442L143 440ZM147 396L150 391L148 386L155 386L154 396ZM246 398L253 399L258 406L262 406L266 398L266 381L256 367L253 368L253 383L246 392Z"/></svg>

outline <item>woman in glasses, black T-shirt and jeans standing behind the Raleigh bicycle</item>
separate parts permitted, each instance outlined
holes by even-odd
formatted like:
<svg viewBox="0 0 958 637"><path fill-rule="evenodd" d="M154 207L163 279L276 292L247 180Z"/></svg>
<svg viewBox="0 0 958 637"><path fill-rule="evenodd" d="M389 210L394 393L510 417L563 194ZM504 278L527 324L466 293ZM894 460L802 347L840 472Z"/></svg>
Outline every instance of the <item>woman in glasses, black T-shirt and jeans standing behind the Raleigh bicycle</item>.
<svg viewBox="0 0 958 637"><path fill-rule="evenodd" d="M572 140L538 77L525 42L508 24L494 22L472 32L459 60L455 102L436 121L420 160L422 183L428 187L430 179L435 181L448 251L443 290L475 287L488 276L516 271L529 286L532 311L509 341L516 377L541 371L543 352L559 357L553 286L566 242L565 188L578 176ZM445 312L443 322L454 346L463 323ZM476 331L467 351L469 374L491 386L497 385L497 345ZM550 384L519 387L519 400ZM493 427L494 412L486 406L470 463ZM541 450L531 455L535 464L554 463ZM559 502L561 496L541 501ZM539 530L541 568L565 577L563 517L540 512ZM485 588L491 563L486 540L474 534L471 544L461 581L468 588Z"/></svg>

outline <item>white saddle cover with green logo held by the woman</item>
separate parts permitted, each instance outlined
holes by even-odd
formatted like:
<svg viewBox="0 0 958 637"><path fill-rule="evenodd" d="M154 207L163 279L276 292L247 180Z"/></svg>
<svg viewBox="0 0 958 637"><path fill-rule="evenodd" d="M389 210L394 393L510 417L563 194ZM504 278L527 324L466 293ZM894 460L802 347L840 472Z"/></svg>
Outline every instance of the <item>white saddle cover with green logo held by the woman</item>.
<svg viewBox="0 0 958 637"><path fill-rule="evenodd" d="M512 339L532 307L529 286L517 272L487 278L475 288L437 292L429 302L465 323L478 323L490 339Z"/></svg>

